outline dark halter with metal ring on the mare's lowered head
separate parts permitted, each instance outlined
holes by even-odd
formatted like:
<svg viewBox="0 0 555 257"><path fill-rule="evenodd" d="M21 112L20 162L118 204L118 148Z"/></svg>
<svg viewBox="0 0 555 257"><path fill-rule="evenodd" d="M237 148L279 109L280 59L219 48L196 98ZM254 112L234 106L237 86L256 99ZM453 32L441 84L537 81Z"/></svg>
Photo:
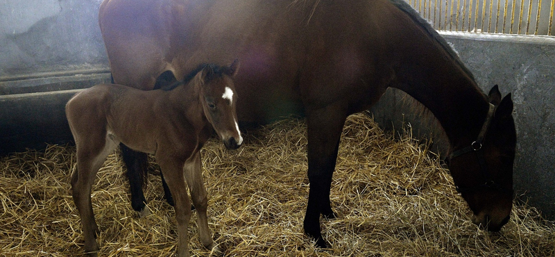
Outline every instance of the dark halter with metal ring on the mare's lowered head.
<svg viewBox="0 0 555 257"><path fill-rule="evenodd" d="M478 159L478 163L480 164L482 179L485 182L479 185L466 187L466 188L461 188L459 187L459 185L456 185L455 183L456 191L461 194L465 192L479 190L479 189L493 189L493 190L499 190L501 192L505 192L508 194L513 194L512 188L511 189L503 188L502 185L495 183L495 181L491 179L491 174L488 172L486 159L484 158L484 151L481 151L482 142L484 142L484 137L488 132L488 128L491 124L491 119L493 118L493 114L495 113L495 108L496 107L490 103L488 115L486 116L486 120L484 121L484 124L481 126L481 131L478 134L478 138L474 142L472 142L470 146L454 151L452 154L449 155L449 159L452 160L453 158L462 156L463 154L475 153Z"/></svg>

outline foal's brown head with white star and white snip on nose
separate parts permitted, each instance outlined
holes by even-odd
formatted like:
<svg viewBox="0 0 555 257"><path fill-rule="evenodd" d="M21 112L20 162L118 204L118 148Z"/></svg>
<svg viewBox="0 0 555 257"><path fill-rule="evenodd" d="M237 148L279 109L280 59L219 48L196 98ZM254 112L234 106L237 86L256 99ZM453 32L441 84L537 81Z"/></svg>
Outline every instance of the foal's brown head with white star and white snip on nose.
<svg viewBox="0 0 555 257"><path fill-rule="evenodd" d="M200 83L200 101L205 116L228 149L237 149L243 143L237 124L237 92L232 80L238 69L238 60L230 66L209 64L196 78Z"/></svg>

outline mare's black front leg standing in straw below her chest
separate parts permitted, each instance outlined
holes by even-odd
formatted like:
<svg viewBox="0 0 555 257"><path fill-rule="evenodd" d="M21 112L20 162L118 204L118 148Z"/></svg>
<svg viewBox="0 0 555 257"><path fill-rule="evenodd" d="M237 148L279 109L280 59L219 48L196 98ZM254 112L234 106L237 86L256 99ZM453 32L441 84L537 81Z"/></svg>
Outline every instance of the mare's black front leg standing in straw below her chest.
<svg viewBox="0 0 555 257"><path fill-rule="evenodd" d="M330 204L330 188L346 116L345 108L339 104L307 110L310 190L304 226L305 233L321 248L326 248L327 243L320 229L320 214L335 217Z"/></svg>

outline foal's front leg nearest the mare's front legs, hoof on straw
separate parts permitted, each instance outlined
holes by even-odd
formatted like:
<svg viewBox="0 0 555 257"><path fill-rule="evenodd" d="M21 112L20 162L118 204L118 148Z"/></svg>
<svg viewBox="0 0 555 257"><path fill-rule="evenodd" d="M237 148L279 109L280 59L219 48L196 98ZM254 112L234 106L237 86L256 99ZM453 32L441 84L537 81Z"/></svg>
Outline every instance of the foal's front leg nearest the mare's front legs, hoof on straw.
<svg viewBox="0 0 555 257"><path fill-rule="evenodd" d="M196 225L198 226L200 242L207 249L221 254L221 249L214 244L214 240L212 240L212 233L210 233L210 229L208 229L208 217L206 214L208 208L208 197L206 196L202 167L200 165L200 151L196 152L195 156L191 158L190 163L185 163L184 170L185 180L187 180L187 185L189 185L191 199L193 200L194 207L196 208Z"/></svg>

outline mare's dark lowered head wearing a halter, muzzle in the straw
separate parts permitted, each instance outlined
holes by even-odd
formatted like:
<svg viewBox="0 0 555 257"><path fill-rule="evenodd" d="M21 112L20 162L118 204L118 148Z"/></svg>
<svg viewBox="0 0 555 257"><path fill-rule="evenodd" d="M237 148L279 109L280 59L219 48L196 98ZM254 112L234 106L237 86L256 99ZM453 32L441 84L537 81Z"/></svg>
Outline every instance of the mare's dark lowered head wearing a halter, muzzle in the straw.
<svg viewBox="0 0 555 257"><path fill-rule="evenodd" d="M472 222L499 231L513 206L516 132L511 94L501 99L497 85L488 95L490 111L477 140L447 159L457 190L472 210Z"/></svg>

